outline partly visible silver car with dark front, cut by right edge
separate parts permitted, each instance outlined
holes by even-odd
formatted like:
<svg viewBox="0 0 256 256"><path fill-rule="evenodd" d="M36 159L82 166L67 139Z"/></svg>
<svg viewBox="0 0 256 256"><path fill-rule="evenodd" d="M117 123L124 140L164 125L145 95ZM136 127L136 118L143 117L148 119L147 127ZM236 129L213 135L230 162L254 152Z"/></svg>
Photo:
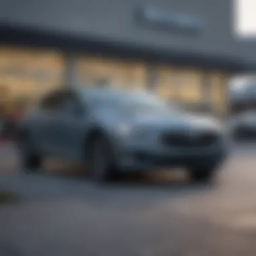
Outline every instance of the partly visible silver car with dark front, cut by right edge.
<svg viewBox="0 0 256 256"><path fill-rule="evenodd" d="M256 111L249 110L235 115L229 126L232 137L236 140L256 139Z"/></svg>

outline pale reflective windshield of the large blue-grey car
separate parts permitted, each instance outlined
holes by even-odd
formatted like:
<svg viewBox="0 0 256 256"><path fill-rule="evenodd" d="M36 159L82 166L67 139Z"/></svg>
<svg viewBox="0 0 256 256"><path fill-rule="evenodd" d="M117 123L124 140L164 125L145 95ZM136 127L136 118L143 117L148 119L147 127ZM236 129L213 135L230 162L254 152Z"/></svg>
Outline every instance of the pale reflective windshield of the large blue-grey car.
<svg viewBox="0 0 256 256"><path fill-rule="evenodd" d="M108 93L88 96L90 104L96 108L123 108L136 111L177 110L177 106L160 98L143 93Z"/></svg>

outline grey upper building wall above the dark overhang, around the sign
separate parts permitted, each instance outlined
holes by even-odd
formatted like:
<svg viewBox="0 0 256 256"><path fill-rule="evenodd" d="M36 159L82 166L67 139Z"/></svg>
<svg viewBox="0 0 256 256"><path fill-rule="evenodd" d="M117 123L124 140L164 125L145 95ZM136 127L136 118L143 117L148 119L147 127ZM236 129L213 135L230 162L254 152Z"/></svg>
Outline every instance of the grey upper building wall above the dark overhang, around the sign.
<svg viewBox="0 0 256 256"><path fill-rule="evenodd" d="M2 0L0 20L163 51L234 57L232 4L232 0ZM139 25L135 12L141 6L152 6L170 18L176 14L198 18L205 28L199 34L189 34Z"/></svg>

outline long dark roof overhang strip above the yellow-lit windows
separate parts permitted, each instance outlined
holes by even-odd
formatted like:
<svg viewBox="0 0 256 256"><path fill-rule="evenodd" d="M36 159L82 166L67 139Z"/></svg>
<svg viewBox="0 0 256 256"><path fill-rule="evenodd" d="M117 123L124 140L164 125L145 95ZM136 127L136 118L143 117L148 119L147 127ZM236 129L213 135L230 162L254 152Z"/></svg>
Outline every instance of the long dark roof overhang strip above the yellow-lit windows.
<svg viewBox="0 0 256 256"><path fill-rule="evenodd" d="M252 65L246 64L237 57L204 55L199 53L162 50L126 42L117 42L96 38L95 36L79 36L65 34L53 30L42 30L18 24L0 24L0 43L19 46L56 48L65 53L92 53L127 59L143 59L144 61L170 63L172 65L203 67L218 69L230 73L243 73L253 70Z"/></svg>

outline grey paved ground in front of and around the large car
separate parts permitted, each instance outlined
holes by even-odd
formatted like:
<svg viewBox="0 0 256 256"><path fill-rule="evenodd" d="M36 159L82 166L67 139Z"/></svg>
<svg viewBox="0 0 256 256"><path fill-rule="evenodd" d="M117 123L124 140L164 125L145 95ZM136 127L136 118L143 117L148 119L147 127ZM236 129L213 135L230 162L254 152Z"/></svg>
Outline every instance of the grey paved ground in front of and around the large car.
<svg viewBox="0 0 256 256"><path fill-rule="evenodd" d="M104 187L25 176L11 152L0 151L0 187L26 200L0 208L1 256L256 255L256 146L236 147L211 186L164 173Z"/></svg>

